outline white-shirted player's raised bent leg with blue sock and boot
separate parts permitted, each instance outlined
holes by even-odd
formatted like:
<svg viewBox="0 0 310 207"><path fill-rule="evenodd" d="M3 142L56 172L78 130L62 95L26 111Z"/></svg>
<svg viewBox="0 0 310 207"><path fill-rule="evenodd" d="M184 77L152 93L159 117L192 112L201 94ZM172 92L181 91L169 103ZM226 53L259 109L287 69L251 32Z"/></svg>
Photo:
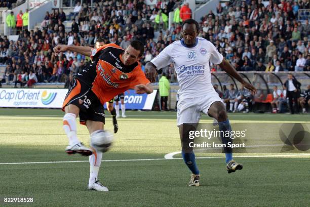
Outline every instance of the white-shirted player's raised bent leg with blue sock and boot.
<svg viewBox="0 0 310 207"><path fill-rule="evenodd" d="M231 131L231 126L229 123L229 119L227 117L227 112L225 110L225 106L220 101L215 101L211 104L208 115L214 117L218 121L219 130L226 132ZM221 135L225 133L220 133ZM225 157L226 157L226 164L227 164L227 171L228 173L233 173L236 170L242 170L243 165L240 163L237 163L232 159L232 148L227 146L228 142L232 142L232 139L226 138L224 136L221 137L222 143L226 144L226 147L224 147Z"/></svg>

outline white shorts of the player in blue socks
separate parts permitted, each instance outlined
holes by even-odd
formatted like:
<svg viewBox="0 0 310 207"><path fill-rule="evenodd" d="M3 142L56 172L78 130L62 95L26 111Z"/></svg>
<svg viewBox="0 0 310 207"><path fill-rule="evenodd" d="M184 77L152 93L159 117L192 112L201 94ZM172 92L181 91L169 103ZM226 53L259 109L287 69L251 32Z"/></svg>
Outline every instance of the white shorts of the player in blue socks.
<svg viewBox="0 0 310 207"><path fill-rule="evenodd" d="M210 106L222 99L215 91L210 91L206 96L196 98L180 98L177 104L177 126L183 123L198 123L201 118L201 113L208 115Z"/></svg>

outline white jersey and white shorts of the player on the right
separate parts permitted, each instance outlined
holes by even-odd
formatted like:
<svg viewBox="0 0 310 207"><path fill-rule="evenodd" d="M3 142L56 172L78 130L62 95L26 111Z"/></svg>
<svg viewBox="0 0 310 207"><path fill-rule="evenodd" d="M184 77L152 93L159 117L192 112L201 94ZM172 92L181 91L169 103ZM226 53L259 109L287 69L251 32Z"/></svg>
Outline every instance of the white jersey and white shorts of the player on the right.
<svg viewBox="0 0 310 207"><path fill-rule="evenodd" d="M173 63L180 89L178 95L177 125L198 123L201 112L208 114L210 106L222 102L211 84L209 61L220 64L223 56L208 40L197 37L196 45L188 48L183 40L167 46L151 62L161 69Z"/></svg>

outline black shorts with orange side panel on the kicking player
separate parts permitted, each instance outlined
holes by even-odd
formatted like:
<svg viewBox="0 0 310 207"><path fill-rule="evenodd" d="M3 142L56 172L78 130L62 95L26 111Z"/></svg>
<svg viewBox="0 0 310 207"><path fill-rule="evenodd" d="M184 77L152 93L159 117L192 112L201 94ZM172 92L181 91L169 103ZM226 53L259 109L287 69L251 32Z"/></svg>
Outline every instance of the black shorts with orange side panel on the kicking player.
<svg viewBox="0 0 310 207"><path fill-rule="evenodd" d="M69 91L62 105L62 110L69 104L79 107L81 125L86 125L87 120L105 123L104 108L99 98L89 86L77 78L74 78L70 84Z"/></svg>

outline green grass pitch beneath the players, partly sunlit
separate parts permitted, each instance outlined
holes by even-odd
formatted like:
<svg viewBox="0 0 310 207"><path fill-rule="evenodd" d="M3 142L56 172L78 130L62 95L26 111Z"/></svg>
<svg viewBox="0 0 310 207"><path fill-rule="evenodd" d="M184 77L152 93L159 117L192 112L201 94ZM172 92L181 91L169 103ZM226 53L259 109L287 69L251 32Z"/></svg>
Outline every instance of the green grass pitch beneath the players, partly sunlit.
<svg viewBox="0 0 310 207"><path fill-rule="evenodd" d="M310 206L310 155L236 157L244 169L227 174L222 154L198 154L207 157L197 160L201 186L188 187L180 155L164 159L180 151L175 112L127 111L99 172L110 191L89 191L88 158L64 153L62 116L55 109L0 109L0 206ZM309 115L253 113L229 119L310 121ZM112 130L109 116L106 129ZM89 144L86 127L79 125L78 136ZM5 197L33 202L5 203Z"/></svg>

